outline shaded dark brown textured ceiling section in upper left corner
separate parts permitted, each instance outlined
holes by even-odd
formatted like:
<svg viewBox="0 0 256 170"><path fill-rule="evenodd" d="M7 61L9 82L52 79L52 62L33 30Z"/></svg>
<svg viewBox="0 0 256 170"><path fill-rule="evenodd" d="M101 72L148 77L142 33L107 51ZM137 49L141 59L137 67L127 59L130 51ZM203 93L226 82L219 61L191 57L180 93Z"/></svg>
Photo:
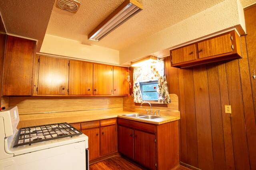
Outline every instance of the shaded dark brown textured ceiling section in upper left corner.
<svg viewBox="0 0 256 170"><path fill-rule="evenodd" d="M0 0L7 33L37 39L39 51L55 0Z"/></svg>

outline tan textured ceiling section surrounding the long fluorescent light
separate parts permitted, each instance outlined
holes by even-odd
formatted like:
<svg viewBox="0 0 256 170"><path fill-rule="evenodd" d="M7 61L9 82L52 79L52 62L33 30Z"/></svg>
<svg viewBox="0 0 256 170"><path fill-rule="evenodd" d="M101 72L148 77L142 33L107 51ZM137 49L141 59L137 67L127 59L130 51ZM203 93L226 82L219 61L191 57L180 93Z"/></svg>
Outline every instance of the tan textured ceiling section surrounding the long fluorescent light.
<svg viewBox="0 0 256 170"><path fill-rule="evenodd" d="M76 14L54 6L46 33L120 50L162 29L193 16L223 0L139 0L143 10L99 42L87 35L124 0L80 0Z"/></svg>

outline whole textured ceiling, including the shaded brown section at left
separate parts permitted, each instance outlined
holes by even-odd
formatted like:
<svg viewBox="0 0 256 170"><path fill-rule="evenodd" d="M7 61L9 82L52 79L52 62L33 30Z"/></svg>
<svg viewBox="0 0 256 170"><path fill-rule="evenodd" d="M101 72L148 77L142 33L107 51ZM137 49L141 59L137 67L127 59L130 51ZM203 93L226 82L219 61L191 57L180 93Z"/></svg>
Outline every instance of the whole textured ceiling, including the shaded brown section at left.
<svg viewBox="0 0 256 170"><path fill-rule="evenodd" d="M124 0L79 0L75 14L56 8L54 1L0 0L7 33L38 39L38 52L45 33L120 50L224 0L138 0L144 10L99 42L87 40L87 35ZM255 2L241 0L243 7Z"/></svg>

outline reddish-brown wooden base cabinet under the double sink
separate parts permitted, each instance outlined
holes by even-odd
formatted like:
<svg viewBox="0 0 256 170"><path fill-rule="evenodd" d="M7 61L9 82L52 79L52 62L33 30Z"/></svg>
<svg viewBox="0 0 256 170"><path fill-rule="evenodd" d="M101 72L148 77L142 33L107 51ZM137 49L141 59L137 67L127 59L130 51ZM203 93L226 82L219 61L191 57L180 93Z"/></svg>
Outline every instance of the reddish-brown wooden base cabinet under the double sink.
<svg viewBox="0 0 256 170"><path fill-rule="evenodd" d="M118 151L150 170L179 164L178 121L161 125L118 118Z"/></svg>

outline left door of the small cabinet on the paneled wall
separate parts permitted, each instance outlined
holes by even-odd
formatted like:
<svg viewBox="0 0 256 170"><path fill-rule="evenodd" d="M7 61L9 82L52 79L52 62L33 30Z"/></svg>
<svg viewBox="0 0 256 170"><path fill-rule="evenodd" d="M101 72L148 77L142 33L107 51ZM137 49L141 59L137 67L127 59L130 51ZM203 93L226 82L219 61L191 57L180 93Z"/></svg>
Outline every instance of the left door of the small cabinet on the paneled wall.
<svg viewBox="0 0 256 170"><path fill-rule="evenodd" d="M172 64L196 60L196 45L189 45L172 50Z"/></svg>

